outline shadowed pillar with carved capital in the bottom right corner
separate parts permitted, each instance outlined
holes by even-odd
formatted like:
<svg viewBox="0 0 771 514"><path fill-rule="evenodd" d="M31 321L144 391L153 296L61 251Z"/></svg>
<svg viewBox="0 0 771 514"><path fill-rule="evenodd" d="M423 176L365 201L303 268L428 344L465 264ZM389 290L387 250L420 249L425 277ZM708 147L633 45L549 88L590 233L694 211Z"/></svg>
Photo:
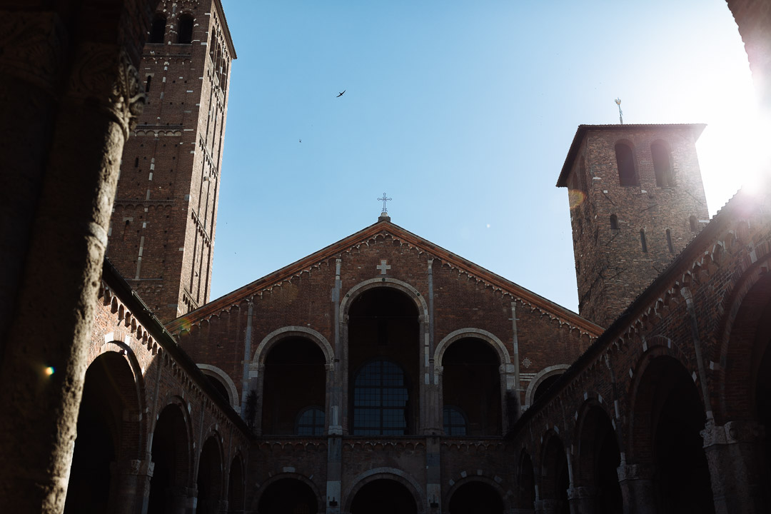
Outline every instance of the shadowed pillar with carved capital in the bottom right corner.
<svg viewBox="0 0 771 514"><path fill-rule="evenodd" d="M766 504L764 428L756 422L708 422L701 432L715 514L769 512Z"/></svg>

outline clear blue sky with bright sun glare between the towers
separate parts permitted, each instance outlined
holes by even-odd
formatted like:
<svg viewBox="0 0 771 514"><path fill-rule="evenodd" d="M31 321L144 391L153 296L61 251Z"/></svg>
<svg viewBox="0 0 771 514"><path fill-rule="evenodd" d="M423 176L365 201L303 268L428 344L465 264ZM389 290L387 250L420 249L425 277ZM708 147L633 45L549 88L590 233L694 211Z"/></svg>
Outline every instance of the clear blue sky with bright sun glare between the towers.
<svg viewBox="0 0 771 514"><path fill-rule="evenodd" d="M618 123L617 96L626 123L707 123L712 214L763 144L725 0L223 3L212 299L374 223L385 192L394 223L576 311L554 184L579 124Z"/></svg>

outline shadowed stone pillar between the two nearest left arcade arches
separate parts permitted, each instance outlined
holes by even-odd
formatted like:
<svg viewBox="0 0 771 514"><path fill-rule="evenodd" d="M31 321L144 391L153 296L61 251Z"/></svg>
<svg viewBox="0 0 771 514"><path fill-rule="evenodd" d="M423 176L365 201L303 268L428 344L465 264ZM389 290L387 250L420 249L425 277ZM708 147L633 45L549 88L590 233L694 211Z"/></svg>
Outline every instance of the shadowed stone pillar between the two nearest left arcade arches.
<svg viewBox="0 0 771 514"><path fill-rule="evenodd" d="M109 466L111 476L109 509L116 514L147 512L150 479L155 463L148 460L125 460Z"/></svg>

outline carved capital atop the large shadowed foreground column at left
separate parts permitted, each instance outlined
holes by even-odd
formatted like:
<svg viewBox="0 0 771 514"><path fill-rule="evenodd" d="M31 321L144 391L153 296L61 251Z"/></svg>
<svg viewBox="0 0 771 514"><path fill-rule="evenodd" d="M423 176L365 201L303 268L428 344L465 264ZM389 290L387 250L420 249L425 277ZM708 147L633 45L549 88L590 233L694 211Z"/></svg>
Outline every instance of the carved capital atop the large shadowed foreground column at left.
<svg viewBox="0 0 771 514"><path fill-rule="evenodd" d="M69 76L69 98L111 116L126 137L144 109L140 75L128 53L113 45L83 43Z"/></svg>

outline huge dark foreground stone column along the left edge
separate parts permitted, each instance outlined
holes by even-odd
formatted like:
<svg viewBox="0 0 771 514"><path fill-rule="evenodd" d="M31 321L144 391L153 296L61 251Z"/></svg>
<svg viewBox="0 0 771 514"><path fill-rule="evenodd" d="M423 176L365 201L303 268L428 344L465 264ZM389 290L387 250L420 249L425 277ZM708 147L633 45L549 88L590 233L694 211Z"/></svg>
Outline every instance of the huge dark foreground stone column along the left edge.
<svg viewBox="0 0 771 514"><path fill-rule="evenodd" d="M143 16L146 27L149 4L138 4L116 2L116 9L98 10L96 21L89 18L96 15L93 9L81 12L86 9L76 3L68 15L78 14L76 27L98 27L93 32L104 37L111 33L114 41L142 32L137 20ZM33 106L56 106L45 112L48 125L39 134L41 142L29 139L13 147L0 141L4 160L13 163L42 152L42 157L30 160L42 166L42 173L22 168L13 182L23 183L27 176L38 181L24 190L32 191L23 211L32 221L24 221L29 230L21 241L13 230L5 230L19 215L5 212L6 206L2 214L0 236L5 246L15 248L12 264L20 265L12 305L2 306L2 314L10 311L12 316L5 317L8 322L0 333L0 505L6 512L58 514L69 482L123 143L144 96L125 47L89 42L72 27L68 33L53 12L0 12L0 20L0 99L4 106L31 108L16 119L2 113L0 135L17 124L28 133L26 119L39 113ZM40 76L50 89L35 86ZM6 96L9 82L17 88L13 98ZM13 188L13 183L5 188ZM6 215L11 223L6 223ZM5 235L14 239L6 240Z"/></svg>

